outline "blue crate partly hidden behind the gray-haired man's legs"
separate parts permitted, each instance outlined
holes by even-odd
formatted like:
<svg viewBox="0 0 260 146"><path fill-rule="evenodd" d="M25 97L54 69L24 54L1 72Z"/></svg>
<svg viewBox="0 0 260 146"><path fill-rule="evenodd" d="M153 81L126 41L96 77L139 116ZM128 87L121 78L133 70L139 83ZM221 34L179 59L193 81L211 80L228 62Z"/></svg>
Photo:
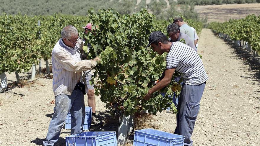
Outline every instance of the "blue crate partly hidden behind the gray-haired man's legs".
<svg viewBox="0 0 260 146"><path fill-rule="evenodd" d="M92 108L85 107L85 122L83 125L83 130L88 130L91 125L91 114ZM68 113L65 121L65 129L71 129L71 114Z"/></svg>

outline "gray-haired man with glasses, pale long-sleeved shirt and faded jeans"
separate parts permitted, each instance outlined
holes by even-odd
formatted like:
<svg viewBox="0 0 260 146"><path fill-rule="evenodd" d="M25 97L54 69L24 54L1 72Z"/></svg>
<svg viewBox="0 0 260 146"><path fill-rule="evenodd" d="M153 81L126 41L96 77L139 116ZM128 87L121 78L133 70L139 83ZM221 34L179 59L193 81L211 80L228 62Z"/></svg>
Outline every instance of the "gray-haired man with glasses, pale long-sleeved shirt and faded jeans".
<svg viewBox="0 0 260 146"><path fill-rule="evenodd" d="M43 146L54 146L58 141L68 112L71 113L71 134L82 132L85 120L84 94L87 93L85 75L82 71L95 67L99 58L81 60L81 47L83 42L77 29L72 25L64 27L61 39L52 50L55 107Z"/></svg>

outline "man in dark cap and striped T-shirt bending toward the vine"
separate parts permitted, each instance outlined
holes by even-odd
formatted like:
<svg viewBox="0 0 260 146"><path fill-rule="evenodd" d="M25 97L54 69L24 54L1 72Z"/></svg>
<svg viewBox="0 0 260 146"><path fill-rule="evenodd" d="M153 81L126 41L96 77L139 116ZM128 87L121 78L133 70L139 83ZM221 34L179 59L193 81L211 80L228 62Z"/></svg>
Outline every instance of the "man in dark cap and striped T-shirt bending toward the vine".
<svg viewBox="0 0 260 146"><path fill-rule="evenodd" d="M191 135L198 115L199 102L208 80L202 60L194 49L182 42L169 42L160 32L152 32L149 44L152 50L162 55L167 52L165 76L152 87L144 99L149 100L155 91L167 86L176 71L182 73L183 85L178 104L177 126L175 134L185 136L184 145L192 146Z"/></svg>

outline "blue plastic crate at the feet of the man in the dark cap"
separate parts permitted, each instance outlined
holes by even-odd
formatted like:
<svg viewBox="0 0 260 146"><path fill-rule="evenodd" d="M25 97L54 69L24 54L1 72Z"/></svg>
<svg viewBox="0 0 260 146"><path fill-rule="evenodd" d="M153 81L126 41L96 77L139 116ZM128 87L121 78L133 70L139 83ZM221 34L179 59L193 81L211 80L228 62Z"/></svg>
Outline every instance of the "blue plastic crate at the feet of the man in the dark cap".
<svg viewBox="0 0 260 146"><path fill-rule="evenodd" d="M134 131L134 146L183 146L185 136L155 129Z"/></svg>

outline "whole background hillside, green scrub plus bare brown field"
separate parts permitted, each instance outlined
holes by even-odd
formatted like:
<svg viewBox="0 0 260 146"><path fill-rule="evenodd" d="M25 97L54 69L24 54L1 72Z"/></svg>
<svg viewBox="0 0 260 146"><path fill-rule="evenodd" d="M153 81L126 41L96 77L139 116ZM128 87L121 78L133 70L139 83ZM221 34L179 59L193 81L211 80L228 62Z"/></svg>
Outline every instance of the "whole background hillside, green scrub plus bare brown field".
<svg viewBox="0 0 260 146"><path fill-rule="evenodd" d="M168 19L176 15L186 18L203 19L203 22L223 22L240 19L248 14L260 14L260 0L0 0L0 14L51 15L55 13L86 16L90 8L113 8L120 14L132 14L146 8L157 19ZM223 4L225 3L225 4ZM203 5L194 4L223 4ZM225 17L223 17L225 16Z"/></svg>

